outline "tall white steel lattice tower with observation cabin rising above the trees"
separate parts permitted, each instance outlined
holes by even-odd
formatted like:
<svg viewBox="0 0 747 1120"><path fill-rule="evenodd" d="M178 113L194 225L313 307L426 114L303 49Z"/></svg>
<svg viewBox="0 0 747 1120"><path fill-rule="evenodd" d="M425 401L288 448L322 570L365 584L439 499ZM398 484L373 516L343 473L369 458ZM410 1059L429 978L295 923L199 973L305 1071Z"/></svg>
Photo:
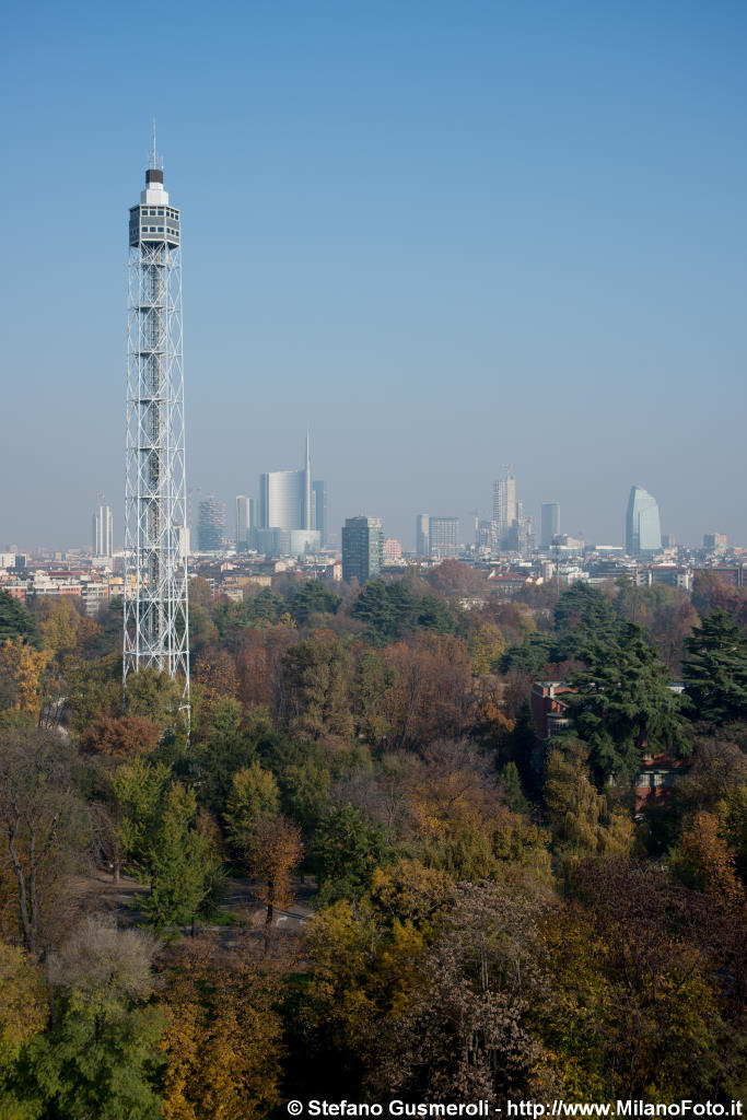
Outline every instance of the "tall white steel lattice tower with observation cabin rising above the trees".
<svg viewBox="0 0 747 1120"><path fill-rule="evenodd" d="M122 678L125 690L142 668L179 678L188 713L180 231L153 129L146 189L130 208Z"/></svg>

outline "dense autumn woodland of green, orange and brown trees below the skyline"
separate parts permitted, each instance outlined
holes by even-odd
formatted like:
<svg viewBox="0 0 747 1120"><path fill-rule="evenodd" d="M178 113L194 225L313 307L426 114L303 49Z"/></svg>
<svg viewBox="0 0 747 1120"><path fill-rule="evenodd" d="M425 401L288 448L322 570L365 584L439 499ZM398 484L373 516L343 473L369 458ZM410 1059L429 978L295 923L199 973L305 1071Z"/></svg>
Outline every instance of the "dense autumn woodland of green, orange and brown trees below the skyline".
<svg viewBox="0 0 747 1120"><path fill-rule="evenodd" d="M121 604L0 592L0 1118L744 1096L747 591L560 591L194 579L189 729Z"/></svg>

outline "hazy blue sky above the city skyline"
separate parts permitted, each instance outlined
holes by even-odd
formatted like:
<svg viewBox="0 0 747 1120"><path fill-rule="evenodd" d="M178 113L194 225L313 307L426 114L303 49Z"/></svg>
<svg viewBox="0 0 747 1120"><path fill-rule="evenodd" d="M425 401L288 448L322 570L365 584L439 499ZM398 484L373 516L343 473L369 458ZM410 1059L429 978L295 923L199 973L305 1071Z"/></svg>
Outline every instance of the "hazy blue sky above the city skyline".
<svg viewBox="0 0 747 1120"><path fill-rule="evenodd" d="M128 207L183 212L188 483L333 526L747 543L747 4L3 4L0 548L122 541Z"/></svg>

